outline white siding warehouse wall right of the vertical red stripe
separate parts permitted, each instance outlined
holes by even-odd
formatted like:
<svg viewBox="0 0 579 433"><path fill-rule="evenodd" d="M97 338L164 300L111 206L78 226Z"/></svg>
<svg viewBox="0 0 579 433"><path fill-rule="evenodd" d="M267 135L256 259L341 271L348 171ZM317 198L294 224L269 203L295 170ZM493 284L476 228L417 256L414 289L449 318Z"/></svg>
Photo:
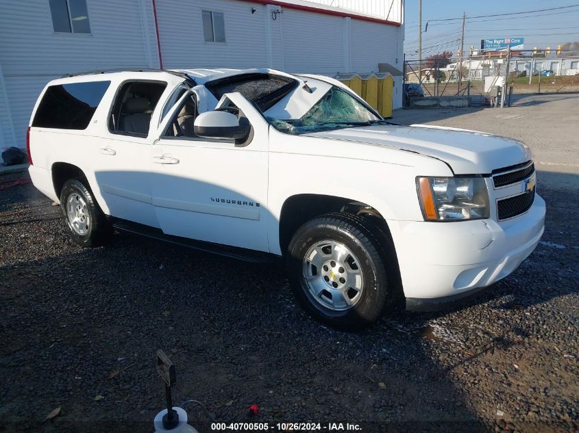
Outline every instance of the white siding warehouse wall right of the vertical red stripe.
<svg viewBox="0 0 579 433"><path fill-rule="evenodd" d="M225 43L204 41L204 9L223 13ZM157 11L166 68L269 67L333 76L378 72L385 62L402 70L403 27L238 0L161 0ZM402 77L395 78L393 106L402 107Z"/></svg>

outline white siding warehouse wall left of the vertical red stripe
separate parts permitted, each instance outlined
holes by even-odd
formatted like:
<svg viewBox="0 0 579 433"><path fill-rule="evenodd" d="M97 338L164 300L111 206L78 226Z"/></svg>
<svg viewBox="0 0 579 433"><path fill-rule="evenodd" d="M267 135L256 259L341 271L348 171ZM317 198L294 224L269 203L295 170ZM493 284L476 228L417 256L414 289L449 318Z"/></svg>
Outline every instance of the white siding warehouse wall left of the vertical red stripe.
<svg viewBox="0 0 579 433"><path fill-rule="evenodd" d="M158 68L151 1L86 3L92 34L56 34L47 0L0 0L0 147L24 146L47 81L85 70Z"/></svg>

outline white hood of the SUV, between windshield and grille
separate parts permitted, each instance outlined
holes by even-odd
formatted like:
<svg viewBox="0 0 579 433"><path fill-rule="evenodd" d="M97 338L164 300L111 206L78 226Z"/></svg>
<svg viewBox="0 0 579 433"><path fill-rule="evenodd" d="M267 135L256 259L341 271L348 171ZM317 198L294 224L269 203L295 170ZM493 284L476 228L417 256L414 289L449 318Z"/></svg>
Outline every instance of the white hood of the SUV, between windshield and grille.
<svg viewBox="0 0 579 433"><path fill-rule="evenodd" d="M374 125L304 135L410 150L445 161L454 174L490 174L497 168L532 159L528 146L517 140L467 129L423 124L410 127Z"/></svg>

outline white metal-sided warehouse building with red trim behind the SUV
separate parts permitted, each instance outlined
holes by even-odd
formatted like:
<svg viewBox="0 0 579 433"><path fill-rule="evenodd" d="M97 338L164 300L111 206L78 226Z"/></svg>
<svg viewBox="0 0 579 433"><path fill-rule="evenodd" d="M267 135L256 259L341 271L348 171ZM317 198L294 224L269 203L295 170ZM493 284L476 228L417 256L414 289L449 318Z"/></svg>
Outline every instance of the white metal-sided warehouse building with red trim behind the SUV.
<svg viewBox="0 0 579 433"><path fill-rule="evenodd" d="M106 68L402 70L403 0L0 0L0 148L47 81ZM402 106L395 77L393 107Z"/></svg>

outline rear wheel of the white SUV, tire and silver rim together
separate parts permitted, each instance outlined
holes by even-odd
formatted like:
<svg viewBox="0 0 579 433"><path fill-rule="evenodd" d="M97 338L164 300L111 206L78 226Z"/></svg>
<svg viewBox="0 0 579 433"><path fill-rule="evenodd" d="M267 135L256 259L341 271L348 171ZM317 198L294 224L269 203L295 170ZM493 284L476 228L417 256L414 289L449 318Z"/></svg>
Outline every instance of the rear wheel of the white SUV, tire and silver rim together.
<svg viewBox="0 0 579 433"><path fill-rule="evenodd" d="M69 179L64 182L60 192L60 209L71 238L80 246L101 246L109 240L112 228L84 181Z"/></svg>

